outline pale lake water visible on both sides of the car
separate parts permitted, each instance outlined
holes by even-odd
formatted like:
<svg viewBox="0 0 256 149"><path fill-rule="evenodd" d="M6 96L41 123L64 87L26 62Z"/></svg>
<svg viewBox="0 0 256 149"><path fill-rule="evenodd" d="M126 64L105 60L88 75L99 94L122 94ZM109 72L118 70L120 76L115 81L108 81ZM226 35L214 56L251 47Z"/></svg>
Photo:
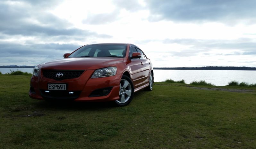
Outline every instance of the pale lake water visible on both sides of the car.
<svg viewBox="0 0 256 149"><path fill-rule="evenodd" d="M20 70L22 72L32 73L33 68L0 68L0 72ZM161 82L166 79L174 81L185 80L186 83L204 80L216 86L225 86L230 81L256 83L256 71L243 70L154 70L154 81Z"/></svg>

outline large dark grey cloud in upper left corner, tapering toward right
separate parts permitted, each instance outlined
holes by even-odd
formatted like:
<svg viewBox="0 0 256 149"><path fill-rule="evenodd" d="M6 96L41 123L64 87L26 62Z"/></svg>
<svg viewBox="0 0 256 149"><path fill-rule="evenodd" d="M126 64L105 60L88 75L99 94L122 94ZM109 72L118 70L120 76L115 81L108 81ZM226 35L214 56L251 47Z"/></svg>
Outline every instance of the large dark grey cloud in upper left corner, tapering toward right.
<svg viewBox="0 0 256 149"><path fill-rule="evenodd" d="M45 11L45 7L51 6L53 1L47 3L40 1L24 1L37 4L30 9L21 5L9 5L0 3L0 33L7 35L24 35L24 36L94 36L99 38L110 38L110 35L99 35L95 32L70 27L71 24L65 20L59 19L53 14ZM48 1L50 2L50 1ZM32 5L31 4L31 5ZM43 4L43 5L40 5ZM35 23L37 22L37 23Z"/></svg>

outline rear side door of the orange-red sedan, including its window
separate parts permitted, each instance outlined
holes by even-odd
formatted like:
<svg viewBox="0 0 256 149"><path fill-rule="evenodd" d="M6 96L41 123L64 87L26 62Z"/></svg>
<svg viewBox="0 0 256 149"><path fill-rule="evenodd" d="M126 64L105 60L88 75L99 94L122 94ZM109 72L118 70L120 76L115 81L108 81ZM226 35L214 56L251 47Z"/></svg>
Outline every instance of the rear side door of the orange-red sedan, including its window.
<svg viewBox="0 0 256 149"><path fill-rule="evenodd" d="M143 74L143 81L142 84L148 83L148 77L149 77L149 69L150 69L150 62L149 60L145 57L144 53L141 51L141 49L136 48L139 53L141 53L141 62L143 63L143 69L144 69L144 74Z"/></svg>

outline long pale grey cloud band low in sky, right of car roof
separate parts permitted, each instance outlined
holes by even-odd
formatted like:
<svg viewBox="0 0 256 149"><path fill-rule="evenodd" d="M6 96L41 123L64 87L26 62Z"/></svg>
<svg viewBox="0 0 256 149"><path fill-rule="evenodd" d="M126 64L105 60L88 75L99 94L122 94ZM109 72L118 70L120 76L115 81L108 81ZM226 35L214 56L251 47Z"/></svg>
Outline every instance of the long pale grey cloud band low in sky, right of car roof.
<svg viewBox="0 0 256 149"><path fill-rule="evenodd" d="M158 49L159 53L169 53L169 56L190 57L190 56L230 56L230 55L256 55L256 42L249 38L236 40L205 40L205 39L164 39L164 40L142 40L140 44L150 42L162 42L163 44L177 43L190 46L189 49L176 51L175 49ZM214 54L211 51L215 51ZM216 51L219 53L216 54Z"/></svg>

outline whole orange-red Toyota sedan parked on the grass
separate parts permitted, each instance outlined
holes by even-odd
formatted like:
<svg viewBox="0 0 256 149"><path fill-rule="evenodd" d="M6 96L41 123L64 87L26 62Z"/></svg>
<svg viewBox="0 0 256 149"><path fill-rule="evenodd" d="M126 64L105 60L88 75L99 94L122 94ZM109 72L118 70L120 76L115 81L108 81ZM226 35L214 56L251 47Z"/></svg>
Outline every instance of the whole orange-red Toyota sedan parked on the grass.
<svg viewBox="0 0 256 149"><path fill-rule="evenodd" d="M64 59L33 69L29 96L42 100L113 101L128 105L134 92L153 88L151 61L134 44L88 44Z"/></svg>

